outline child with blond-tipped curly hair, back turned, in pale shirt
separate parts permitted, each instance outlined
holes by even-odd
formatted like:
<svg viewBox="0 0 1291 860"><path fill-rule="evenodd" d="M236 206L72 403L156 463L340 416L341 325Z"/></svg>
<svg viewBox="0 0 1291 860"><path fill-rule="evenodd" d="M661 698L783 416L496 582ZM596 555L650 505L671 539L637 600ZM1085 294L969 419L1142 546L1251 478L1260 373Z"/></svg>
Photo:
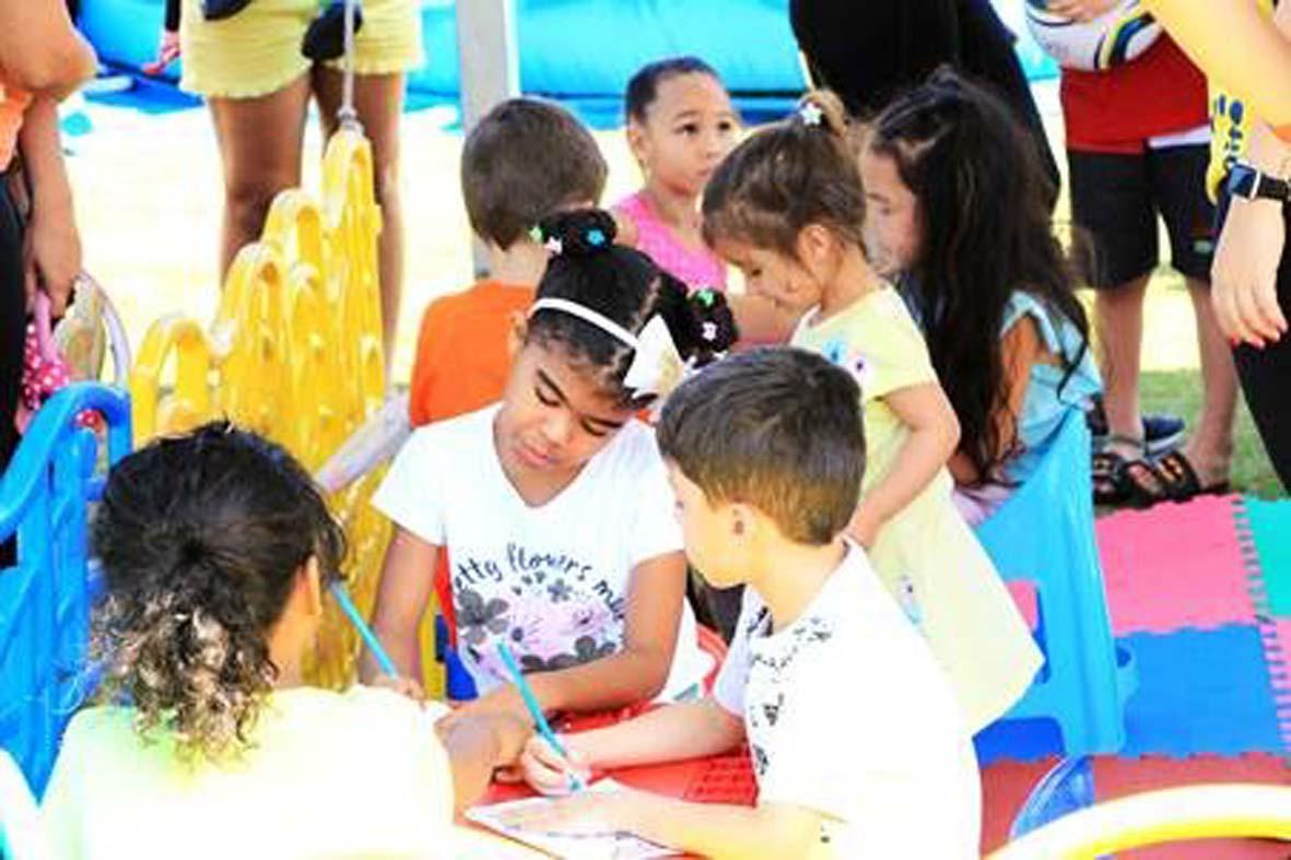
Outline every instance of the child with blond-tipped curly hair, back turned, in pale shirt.
<svg viewBox="0 0 1291 860"><path fill-rule="evenodd" d="M45 794L54 856L208 855L210 841L223 856L426 856L524 742L519 721L436 739L442 706L302 684L343 536L303 469L254 434L217 422L130 455L93 541L103 704L72 718Z"/></svg>

